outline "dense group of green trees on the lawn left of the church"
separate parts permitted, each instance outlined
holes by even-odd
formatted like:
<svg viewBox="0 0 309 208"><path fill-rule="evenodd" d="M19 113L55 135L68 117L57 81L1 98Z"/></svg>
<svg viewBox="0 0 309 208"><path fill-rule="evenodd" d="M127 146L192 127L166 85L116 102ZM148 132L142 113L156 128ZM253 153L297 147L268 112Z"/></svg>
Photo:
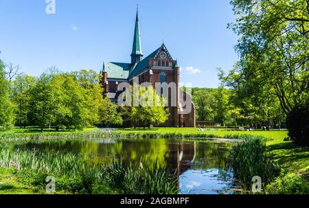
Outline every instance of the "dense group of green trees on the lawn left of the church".
<svg viewBox="0 0 309 208"><path fill-rule="evenodd" d="M99 74L93 70L62 73L55 67L37 79L16 76L11 93L16 105L16 125L40 126L43 132L51 126L56 130L80 130L102 122L122 124L117 107L103 100L99 80Z"/></svg>

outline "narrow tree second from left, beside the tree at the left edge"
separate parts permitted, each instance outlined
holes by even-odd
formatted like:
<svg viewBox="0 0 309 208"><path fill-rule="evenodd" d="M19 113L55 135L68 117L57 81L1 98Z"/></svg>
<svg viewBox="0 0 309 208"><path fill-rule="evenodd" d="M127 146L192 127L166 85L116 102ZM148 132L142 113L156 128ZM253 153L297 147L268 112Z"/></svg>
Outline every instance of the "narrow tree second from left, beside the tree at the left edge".
<svg viewBox="0 0 309 208"><path fill-rule="evenodd" d="M28 75L17 75L12 81L12 102L16 106L15 125L26 127L31 124L31 89L36 84L36 78Z"/></svg>

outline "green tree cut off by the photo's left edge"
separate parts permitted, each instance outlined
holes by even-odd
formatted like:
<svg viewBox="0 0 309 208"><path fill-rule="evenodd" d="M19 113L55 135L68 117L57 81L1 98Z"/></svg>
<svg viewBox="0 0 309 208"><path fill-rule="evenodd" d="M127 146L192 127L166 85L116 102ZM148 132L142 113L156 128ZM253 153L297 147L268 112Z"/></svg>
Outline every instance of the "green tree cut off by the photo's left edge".
<svg viewBox="0 0 309 208"><path fill-rule="evenodd" d="M5 80L4 64L0 60L0 130L10 128L13 123L14 106L9 100L9 82Z"/></svg>

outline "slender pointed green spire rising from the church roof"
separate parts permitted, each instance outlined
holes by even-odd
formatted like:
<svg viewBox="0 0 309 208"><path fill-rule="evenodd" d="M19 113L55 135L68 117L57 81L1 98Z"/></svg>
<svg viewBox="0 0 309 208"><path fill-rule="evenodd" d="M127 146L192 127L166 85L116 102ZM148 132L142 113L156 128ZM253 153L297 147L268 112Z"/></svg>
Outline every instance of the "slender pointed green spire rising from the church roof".
<svg viewBox="0 0 309 208"><path fill-rule="evenodd" d="M142 58L143 53L141 52L141 34L139 32L139 8L137 5L131 64L135 65L137 62L140 62Z"/></svg>

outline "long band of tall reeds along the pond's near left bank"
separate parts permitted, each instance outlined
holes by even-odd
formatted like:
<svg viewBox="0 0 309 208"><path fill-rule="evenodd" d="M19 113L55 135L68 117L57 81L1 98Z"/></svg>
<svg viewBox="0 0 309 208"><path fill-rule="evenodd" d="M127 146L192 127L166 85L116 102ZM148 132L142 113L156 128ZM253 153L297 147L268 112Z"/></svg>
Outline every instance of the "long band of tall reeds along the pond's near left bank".
<svg viewBox="0 0 309 208"><path fill-rule="evenodd" d="M56 178L58 193L177 194L177 178L168 171L137 165L89 165L83 155L49 154L0 148L0 167L19 172L24 183L44 192L46 176ZM154 167L157 167L155 165Z"/></svg>

